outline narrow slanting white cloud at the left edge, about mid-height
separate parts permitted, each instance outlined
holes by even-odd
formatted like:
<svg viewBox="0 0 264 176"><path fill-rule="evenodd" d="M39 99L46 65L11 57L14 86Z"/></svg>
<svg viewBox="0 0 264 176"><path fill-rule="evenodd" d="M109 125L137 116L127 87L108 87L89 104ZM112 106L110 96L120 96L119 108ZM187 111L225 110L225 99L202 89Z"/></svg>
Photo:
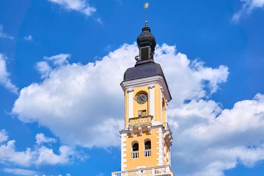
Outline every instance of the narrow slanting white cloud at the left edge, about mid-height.
<svg viewBox="0 0 264 176"><path fill-rule="evenodd" d="M18 94L18 87L11 82L6 64L7 57L0 53L0 84L4 85L9 91Z"/></svg>

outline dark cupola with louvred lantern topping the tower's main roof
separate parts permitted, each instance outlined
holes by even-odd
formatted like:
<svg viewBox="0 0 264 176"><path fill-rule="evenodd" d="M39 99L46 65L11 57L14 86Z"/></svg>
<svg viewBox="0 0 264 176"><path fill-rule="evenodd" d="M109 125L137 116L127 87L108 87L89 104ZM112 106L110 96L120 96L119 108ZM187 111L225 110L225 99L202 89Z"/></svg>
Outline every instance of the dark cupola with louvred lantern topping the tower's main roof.
<svg viewBox="0 0 264 176"><path fill-rule="evenodd" d="M142 28L141 34L137 37L137 45L139 49L139 57L136 57L137 61L153 59L156 40L147 24Z"/></svg>

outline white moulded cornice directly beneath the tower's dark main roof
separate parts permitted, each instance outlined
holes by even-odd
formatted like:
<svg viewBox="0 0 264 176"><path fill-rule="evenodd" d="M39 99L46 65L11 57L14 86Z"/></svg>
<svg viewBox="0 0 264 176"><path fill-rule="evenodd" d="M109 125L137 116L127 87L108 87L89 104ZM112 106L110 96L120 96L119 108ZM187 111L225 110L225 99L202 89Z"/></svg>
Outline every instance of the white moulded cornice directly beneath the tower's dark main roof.
<svg viewBox="0 0 264 176"><path fill-rule="evenodd" d="M155 84L155 83L161 85L162 93L165 97L165 100L167 102L169 102L171 100L171 97L169 94L167 84L166 84L165 80L163 79L163 77L159 76L159 75L123 81L123 82L121 82L121 87L122 87L123 91L126 92L127 89L130 89L133 87L151 85L151 84Z"/></svg>

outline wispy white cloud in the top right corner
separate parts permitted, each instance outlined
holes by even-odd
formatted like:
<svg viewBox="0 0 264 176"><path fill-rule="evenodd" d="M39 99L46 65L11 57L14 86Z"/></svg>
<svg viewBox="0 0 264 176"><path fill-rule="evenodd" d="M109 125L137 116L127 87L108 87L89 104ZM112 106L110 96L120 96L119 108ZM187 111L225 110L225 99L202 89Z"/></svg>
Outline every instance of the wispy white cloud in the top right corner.
<svg viewBox="0 0 264 176"><path fill-rule="evenodd" d="M262 8L264 5L263 0L240 0L242 2L242 8L240 11L233 15L232 21L234 23L239 22L242 16L249 15L254 9Z"/></svg>

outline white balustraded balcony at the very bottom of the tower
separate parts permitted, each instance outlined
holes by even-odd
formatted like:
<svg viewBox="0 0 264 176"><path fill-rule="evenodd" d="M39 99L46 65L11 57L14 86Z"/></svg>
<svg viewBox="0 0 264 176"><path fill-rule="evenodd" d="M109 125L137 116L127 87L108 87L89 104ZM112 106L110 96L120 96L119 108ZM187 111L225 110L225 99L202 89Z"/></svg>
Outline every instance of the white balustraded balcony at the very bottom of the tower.
<svg viewBox="0 0 264 176"><path fill-rule="evenodd" d="M175 176L169 165L112 172L112 176Z"/></svg>

